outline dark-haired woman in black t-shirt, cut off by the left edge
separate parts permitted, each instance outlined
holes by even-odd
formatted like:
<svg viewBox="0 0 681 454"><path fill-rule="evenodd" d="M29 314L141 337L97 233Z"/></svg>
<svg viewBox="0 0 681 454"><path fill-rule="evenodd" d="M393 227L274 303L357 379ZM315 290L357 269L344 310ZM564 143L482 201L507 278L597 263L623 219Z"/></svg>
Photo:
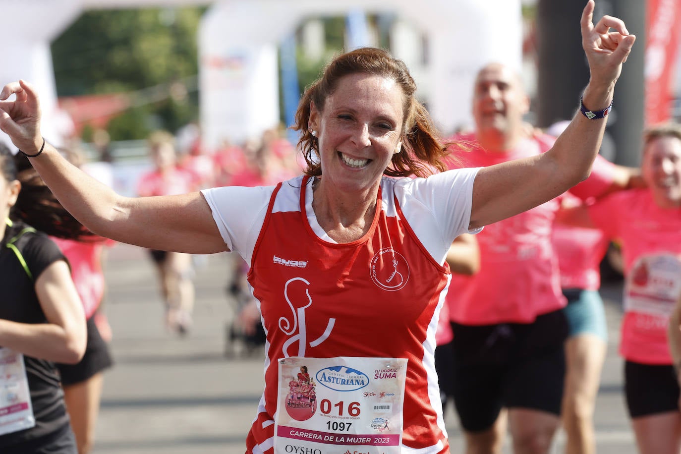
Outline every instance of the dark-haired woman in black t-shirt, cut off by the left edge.
<svg viewBox="0 0 681 454"><path fill-rule="evenodd" d="M77 223L61 207L23 203L31 188L22 192L18 159L0 146L0 452L76 454L55 362L80 361L85 317L69 265L46 233L82 230L69 231Z"/></svg>

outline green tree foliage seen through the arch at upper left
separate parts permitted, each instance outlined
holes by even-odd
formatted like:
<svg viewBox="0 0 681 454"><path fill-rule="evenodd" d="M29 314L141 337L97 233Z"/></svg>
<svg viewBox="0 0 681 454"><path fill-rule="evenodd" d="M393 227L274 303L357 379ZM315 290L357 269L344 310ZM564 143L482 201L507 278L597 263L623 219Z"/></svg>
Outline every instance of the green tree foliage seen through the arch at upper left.
<svg viewBox="0 0 681 454"><path fill-rule="evenodd" d="M59 96L130 93L133 108L112 122L112 140L142 139L153 126L175 131L197 118L197 29L205 8L91 10L52 43ZM172 86L187 86L176 96ZM151 88L155 87L155 88ZM181 91L180 91L181 92Z"/></svg>

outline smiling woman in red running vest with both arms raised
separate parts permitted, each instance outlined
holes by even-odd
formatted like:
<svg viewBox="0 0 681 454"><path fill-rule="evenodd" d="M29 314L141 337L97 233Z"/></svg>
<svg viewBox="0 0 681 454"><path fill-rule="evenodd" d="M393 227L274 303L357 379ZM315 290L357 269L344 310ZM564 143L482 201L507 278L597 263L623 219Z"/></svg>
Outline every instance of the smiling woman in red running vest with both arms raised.
<svg viewBox="0 0 681 454"><path fill-rule="evenodd" d="M584 106L600 110L635 38L616 18L592 25L593 8L590 1L582 18L591 71ZM31 158L61 203L101 236L184 253L234 250L251 264L268 342L249 453L328 451L347 438L385 453L448 452L433 365L447 250L460 233L582 180L605 129L602 118L578 114L541 156L430 175L445 169L447 147L415 91L405 64L384 50L337 56L296 115L306 175L276 187L129 198L50 144ZM12 82L0 99L0 129L35 155L43 142L37 93ZM317 403L303 420L285 410L301 366L315 380ZM390 373L375 378L375 370Z"/></svg>

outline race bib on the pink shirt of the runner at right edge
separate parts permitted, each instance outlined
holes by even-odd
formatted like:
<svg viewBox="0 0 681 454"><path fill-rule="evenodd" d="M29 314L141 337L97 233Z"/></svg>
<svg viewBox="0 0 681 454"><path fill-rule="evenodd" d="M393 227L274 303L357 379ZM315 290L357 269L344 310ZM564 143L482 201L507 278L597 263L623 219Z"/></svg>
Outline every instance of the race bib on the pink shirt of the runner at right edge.
<svg viewBox="0 0 681 454"><path fill-rule="evenodd" d="M669 317L681 294L681 261L672 254L646 255L631 267L624 310Z"/></svg>

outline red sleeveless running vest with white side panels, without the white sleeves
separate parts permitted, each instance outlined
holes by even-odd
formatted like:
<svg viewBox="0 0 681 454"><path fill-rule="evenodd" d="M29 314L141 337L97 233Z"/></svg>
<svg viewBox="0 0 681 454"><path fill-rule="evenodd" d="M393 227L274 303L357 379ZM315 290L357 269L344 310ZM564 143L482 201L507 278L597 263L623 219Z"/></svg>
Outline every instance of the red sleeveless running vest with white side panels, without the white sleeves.
<svg viewBox="0 0 681 454"><path fill-rule="evenodd" d="M289 356L407 358L402 442L423 452L447 451L439 394L429 392L437 389L437 376L434 338L427 334L449 267L426 253L399 206L396 216L386 216L381 206L396 201L391 191L381 203L382 192L368 233L338 244L311 229L305 191L287 183L274 191L249 272L269 344L264 406L247 439L249 452L266 451L274 436L277 359ZM298 206L283 206L291 193L300 194ZM304 319L297 319L302 307Z"/></svg>

